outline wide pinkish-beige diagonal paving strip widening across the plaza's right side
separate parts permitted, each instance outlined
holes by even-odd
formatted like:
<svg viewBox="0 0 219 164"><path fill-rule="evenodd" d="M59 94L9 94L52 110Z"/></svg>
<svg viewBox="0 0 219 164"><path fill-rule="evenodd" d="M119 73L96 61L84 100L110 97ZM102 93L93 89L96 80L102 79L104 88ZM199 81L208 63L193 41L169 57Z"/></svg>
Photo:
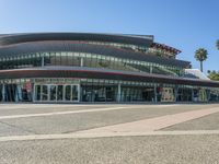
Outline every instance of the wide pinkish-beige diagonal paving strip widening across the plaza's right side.
<svg viewBox="0 0 219 164"><path fill-rule="evenodd" d="M210 114L219 112L219 107L199 109L192 112L184 112L180 114L165 115L149 119L142 119L131 122L118 124L113 126L100 127L94 129L84 130L84 133L99 133L99 132L147 132L166 128L176 124L200 118Z"/></svg>

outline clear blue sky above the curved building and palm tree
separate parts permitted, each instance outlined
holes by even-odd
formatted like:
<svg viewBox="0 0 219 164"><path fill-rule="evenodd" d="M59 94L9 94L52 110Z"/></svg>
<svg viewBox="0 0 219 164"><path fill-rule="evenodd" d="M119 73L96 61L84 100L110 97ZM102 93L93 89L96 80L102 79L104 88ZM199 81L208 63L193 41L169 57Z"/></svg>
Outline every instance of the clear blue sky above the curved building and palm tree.
<svg viewBox="0 0 219 164"><path fill-rule="evenodd" d="M219 70L219 0L0 0L0 33L26 32L154 35L194 68L206 48L205 71Z"/></svg>

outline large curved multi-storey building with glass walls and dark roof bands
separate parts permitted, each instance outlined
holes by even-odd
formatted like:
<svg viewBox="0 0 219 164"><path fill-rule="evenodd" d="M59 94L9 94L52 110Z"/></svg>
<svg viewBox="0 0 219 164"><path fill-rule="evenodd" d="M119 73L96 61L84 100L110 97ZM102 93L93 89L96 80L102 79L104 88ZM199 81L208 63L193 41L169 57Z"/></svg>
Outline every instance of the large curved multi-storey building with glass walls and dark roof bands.
<svg viewBox="0 0 219 164"><path fill-rule="evenodd" d="M151 35L0 35L0 102L208 102L219 83Z"/></svg>

